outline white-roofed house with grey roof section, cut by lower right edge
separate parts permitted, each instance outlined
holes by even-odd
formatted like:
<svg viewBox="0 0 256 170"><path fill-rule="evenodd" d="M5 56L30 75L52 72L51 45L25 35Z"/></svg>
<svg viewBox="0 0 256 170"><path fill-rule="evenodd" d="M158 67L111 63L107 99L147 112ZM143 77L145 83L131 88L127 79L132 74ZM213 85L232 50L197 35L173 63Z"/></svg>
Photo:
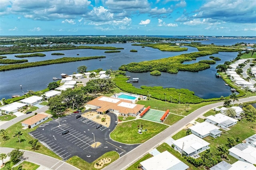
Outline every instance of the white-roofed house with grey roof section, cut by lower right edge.
<svg viewBox="0 0 256 170"><path fill-rule="evenodd" d="M248 144L237 144L236 146L230 148L228 151L231 156L237 158L238 160L256 164L256 148Z"/></svg>

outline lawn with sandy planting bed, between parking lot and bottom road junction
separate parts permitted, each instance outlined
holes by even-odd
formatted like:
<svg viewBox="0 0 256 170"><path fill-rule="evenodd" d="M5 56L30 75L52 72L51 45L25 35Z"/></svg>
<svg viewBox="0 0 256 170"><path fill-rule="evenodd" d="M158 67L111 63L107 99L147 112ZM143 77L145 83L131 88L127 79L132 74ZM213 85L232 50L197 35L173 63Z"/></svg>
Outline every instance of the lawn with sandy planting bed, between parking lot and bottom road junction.
<svg viewBox="0 0 256 170"><path fill-rule="evenodd" d="M76 166L77 168L79 168L81 170L98 170L98 168L94 168L94 164L96 162L98 162L98 160L101 160L103 158L111 158L111 162L114 162L115 160L117 160L119 158L119 154L115 151L107 152L107 153L103 154L102 156L100 156L100 158L94 160L94 162L92 162L92 163L88 163L85 160L79 158L78 156L73 156L72 158L69 158L66 162L73 166ZM104 168L107 165L108 164L104 164L104 166L102 168Z"/></svg>

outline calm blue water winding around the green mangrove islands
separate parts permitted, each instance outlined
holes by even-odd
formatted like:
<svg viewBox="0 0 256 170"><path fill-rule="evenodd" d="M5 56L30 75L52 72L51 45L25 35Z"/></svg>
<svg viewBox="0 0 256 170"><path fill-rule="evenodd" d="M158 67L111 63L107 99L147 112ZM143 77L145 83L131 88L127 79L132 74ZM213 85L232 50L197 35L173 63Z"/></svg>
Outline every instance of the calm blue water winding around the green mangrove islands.
<svg viewBox="0 0 256 170"><path fill-rule="evenodd" d="M213 39L209 41L202 41L202 43L214 43L216 45L232 45L237 42L255 43L255 40L232 40L232 39ZM77 72L77 68L81 65L86 65L88 70L102 68L117 70L123 64L131 62L140 62L145 60L160 59L164 57L172 57L182 53L191 53L197 51L194 47L188 47L188 51L182 52L168 52L160 51L150 47L141 48L140 46L132 46L132 43L124 44L97 44L98 46L112 46L123 47L120 53L104 53L106 50L94 49L74 49L61 51L47 51L42 52L46 54L45 57L28 57L29 62L42 61L48 59L56 59L62 57L86 57L104 55L106 58L99 61L98 59L88 61L76 61L71 63L62 63L54 65L46 65L39 67L30 67L26 69L17 69L0 72L0 98L11 98L12 95L23 95L28 90L39 91L45 89L47 84L52 82L52 77L60 77L61 73L72 74ZM95 46L95 45L92 45ZM138 50L137 53L130 52L130 49ZM51 55L53 52L64 53L65 55ZM79 54L79 55L76 55ZM6 55L9 59L17 59L14 55ZM140 88L141 85L147 86L162 86L174 87L177 89L184 88L194 91L198 97L208 99L213 97L230 95L230 87L224 85L224 81L216 78L216 65L223 64L237 56L237 52L224 53L220 52L213 56L220 57L221 61L216 61L215 65L211 65L210 69L199 72L179 71L178 74L162 73L161 76L152 76L150 73L130 73L132 78L138 77L139 82L133 83L135 87ZM209 56L198 57L196 61L184 62L184 64L198 62L203 59L209 59ZM22 85L22 88L20 87Z"/></svg>

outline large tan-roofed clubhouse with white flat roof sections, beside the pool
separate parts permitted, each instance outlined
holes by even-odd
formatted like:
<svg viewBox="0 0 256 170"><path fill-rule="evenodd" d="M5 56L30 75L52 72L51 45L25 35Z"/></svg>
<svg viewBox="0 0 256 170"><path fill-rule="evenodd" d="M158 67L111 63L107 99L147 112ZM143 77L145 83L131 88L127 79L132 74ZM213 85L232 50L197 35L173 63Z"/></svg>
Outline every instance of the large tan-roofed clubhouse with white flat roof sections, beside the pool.
<svg viewBox="0 0 256 170"><path fill-rule="evenodd" d="M100 96L89 101L87 107L96 108L99 114L116 112L122 116L137 116L143 109L144 105L134 104L126 100Z"/></svg>

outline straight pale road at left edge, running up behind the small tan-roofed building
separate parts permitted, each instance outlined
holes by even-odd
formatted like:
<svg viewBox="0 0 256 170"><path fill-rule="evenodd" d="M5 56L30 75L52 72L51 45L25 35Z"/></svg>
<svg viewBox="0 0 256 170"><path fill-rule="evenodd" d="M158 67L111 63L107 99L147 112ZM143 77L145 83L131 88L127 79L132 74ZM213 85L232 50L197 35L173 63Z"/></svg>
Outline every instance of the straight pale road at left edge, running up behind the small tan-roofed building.
<svg viewBox="0 0 256 170"><path fill-rule="evenodd" d="M27 115L24 114L22 116L16 117L16 118L4 123L3 125L1 125L1 129L7 129L8 127L14 125L15 123L18 123L19 121L22 121L23 119L26 119L28 117L33 116L35 113L41 113L41 112L44 112L44 111L47 111L47 110L48 110L48 106L44 106L40 109L37 109L36 111L33 111L30 114L27 114Z"/></svg>

